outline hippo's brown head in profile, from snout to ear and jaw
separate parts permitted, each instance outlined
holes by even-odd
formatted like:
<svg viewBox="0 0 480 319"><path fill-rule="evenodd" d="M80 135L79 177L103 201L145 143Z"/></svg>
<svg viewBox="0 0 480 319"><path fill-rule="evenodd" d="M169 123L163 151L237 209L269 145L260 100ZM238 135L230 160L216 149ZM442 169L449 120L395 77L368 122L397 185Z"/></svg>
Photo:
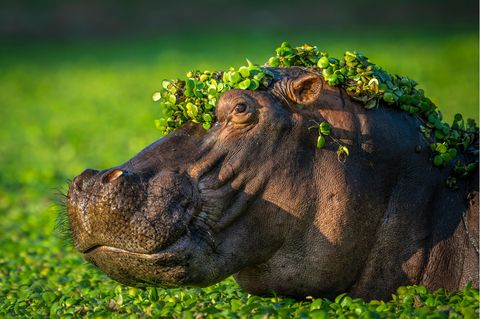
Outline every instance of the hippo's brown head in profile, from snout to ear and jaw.
<svg viewBox="0 0 480 319"><path fill-rule="evenodd" d="M299 110L323 82L290 72L270 90L224 93L208 131L187 123L125 164L75 177L75 247L129 285L206 286L268 261L314 206L303 193L315 122Z"/></svg>

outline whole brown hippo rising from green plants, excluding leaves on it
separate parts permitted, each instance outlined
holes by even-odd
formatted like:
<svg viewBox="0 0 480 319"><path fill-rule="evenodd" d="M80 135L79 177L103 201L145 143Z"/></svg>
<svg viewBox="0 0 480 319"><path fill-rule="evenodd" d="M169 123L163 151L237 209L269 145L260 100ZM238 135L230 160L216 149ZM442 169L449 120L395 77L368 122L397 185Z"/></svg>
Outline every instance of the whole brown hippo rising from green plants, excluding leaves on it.
<svg viewBox="0 0 480 319"><path fill-rule="evenodd" d="M250 293L296 298L478 287L477 176L449 190L418 119L366 111L300 68L273 71L268 90L224 93L209 131L186 124L77 176L68 215L85 258L127 285L233 274ZM315 147L322 120L345 162L329 138Z"/></svg>

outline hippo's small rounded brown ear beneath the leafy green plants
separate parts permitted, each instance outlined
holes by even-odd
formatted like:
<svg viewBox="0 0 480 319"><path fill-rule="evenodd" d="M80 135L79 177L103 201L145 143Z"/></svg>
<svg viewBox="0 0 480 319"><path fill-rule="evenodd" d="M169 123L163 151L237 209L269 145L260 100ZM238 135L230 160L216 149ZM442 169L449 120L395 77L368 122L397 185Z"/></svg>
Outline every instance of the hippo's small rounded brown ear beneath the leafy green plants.
<svg viewBox="0 0 480 319"><path fill-rule="evenodd" d="M310 104L318 100L322 87L323 81L320 76L308 73L289 81L287 96L296 104Z"/></svg>

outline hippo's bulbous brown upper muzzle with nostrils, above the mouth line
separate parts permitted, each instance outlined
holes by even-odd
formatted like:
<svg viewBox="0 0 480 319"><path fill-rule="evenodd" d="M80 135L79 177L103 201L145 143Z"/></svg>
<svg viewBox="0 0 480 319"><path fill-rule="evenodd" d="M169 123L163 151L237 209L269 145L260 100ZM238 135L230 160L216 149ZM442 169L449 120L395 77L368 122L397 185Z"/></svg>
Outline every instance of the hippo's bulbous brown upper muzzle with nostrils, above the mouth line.
<svg viewBox="0 0 480 319"><path fill-rule="evenodd" d="M187 231L195 194L189 177L178 172L87 169L67 195L74 244L88 254L101 247L157 253Z"/></svg>

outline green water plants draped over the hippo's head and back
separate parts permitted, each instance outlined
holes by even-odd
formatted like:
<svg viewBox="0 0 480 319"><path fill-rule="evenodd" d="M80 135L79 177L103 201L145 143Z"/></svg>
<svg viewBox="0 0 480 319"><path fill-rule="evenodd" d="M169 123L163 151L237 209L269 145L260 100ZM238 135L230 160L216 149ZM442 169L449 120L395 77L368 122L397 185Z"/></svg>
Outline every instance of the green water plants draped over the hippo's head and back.
<svg viewBox="0 0 480 319"><path fill-rule="evenodd" d="M359 52L347 51L336 59L317 47L305 44L292 47L284 42L276 49L275 56L264 66L247 60L247 65L227 71L192 71L186 80L163 81L162 88L154 93L153 100L160 102L166 118L156 120L156 127L167 134L187 121L202 124L209 129L215 120L215 105L220 95L230 89L266 89L273 81L268 67L299 66L318 73L330 86L343 88L352 99L361 102L366 109L380 105L408 112L422 121L420 132L431 142L433 164L444 167L455 158L453 173L464 177L478 167L478 126L474 120L466 122L456 114L452 125L442 120L436 105L417 88L417 82L405 76L391 75L380 66L372 63ZM326 122L323 122L326 123ZM323 124L321 123L321 124ZM345 158L349 150L326 131L322 133L319 124L317 147L325 145L325 137L337 142L339 158ZM328 124L328 123L327 123ZM325 129L325 125L324 129ZM459 153L471 154L457 157ZM455 188L456 179L448 181Z"/></svg>

